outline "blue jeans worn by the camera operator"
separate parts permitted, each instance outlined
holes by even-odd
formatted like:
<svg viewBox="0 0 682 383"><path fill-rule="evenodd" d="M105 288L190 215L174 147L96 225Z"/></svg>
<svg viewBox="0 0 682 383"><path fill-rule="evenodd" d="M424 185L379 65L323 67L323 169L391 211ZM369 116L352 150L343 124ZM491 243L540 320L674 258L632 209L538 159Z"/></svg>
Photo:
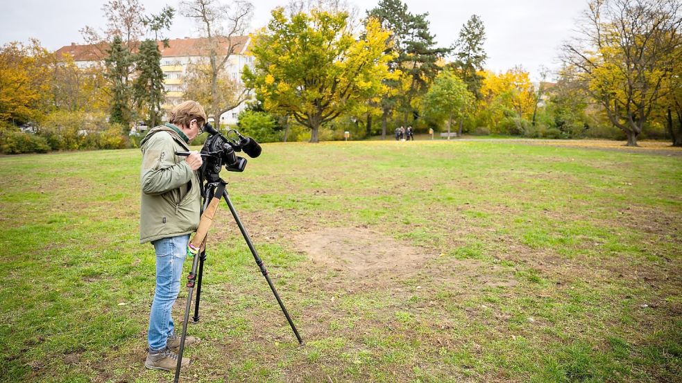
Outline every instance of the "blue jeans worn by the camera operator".
<svg viewBox="0 0 682 383"><path fill-rule="evenodd" d="M156 251L156 289L147 333L150 351L166 348L166 339L173 334L171 309L180 292L180 276L182 263L187 257L187 242L189 234L152 242Z"/></svg>

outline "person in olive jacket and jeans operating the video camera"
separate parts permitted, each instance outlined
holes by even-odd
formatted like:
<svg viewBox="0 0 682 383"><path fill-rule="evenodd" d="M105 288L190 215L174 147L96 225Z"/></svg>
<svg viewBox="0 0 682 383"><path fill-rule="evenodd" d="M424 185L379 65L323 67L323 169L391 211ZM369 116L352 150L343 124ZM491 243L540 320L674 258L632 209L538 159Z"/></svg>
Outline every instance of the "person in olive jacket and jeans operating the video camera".
<svg viewBox="0 0 682 383"><path fill-rule="evenodd" d="M156 288L149 316L146 368L173 370L180 347L180 337L173 332L171 308L180 292L182 263L187 256L189 234L196 230L201 211L201 184L197 170L201 155L187 157L176 151L189 151L206 121L203 107L185 101L171 111L169 123L149 131L141 142L142 198L140 243L151 242L156 251ZM185 346L198 339L186 337ZM182 358L182 366L189 358Z"/></svg>

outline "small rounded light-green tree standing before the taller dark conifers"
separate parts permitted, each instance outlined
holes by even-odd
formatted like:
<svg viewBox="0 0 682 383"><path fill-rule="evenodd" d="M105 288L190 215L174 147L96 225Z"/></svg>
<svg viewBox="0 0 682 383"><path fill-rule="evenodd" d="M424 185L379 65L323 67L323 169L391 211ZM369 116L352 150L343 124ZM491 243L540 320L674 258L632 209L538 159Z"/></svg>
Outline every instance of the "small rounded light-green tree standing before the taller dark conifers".
<svg viewBox="0 0 682 383"><path fill-rule="evenodd" d="M447 139L450 139L452 121L459 120L459 134L462 134L462 121L474 103L473 94L466 84L453 71L442 71L431 85L424 99L425 113L438 120L447 121Z"/></svg>

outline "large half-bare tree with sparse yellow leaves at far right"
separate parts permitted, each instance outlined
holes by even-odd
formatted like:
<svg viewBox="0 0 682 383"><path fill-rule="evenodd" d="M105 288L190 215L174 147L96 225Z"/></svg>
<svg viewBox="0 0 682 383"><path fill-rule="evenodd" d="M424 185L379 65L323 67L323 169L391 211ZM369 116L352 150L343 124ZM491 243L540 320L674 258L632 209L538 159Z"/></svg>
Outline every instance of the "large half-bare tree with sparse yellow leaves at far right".
<svg viewBox="0 0 682 383"><path fill-rule="evenodd" d="M671 75L665 63L681 44L680 7L679 0L593 0L580 26L584 38L564 46L575 80L625 132L628 146L637 146Z"/></svg>

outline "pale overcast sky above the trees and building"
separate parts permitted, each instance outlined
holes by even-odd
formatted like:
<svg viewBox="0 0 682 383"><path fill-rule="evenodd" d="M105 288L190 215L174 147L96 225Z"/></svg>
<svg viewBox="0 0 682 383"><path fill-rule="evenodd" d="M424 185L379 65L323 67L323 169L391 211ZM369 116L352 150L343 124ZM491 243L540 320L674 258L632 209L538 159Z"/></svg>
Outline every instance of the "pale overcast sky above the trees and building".
<svg viewBox="0 0 682 383"><path fill-rule="evenodd" d="M147 13L159 12L164 5L178 8L178 0L139 0ZM349 0L360 10L374 8L378 0ZM431 32L439 46L450 46L473 14L483 19L488 53L486 67L506 71L522 65L537 80L542 65L556 69L561 43L574 35L574 22L586 8L586 0L403 0L412 13L428 12ZM0 44L27 42L35 37L54 51L83 39L78 30L83 26L103 28L106 21L103 0L7 0L0 12ZM270 10L284 6L288 0L255 0L252 30L265 26ZM167 37L196 37L194 24L176 15Z"/></svg>

